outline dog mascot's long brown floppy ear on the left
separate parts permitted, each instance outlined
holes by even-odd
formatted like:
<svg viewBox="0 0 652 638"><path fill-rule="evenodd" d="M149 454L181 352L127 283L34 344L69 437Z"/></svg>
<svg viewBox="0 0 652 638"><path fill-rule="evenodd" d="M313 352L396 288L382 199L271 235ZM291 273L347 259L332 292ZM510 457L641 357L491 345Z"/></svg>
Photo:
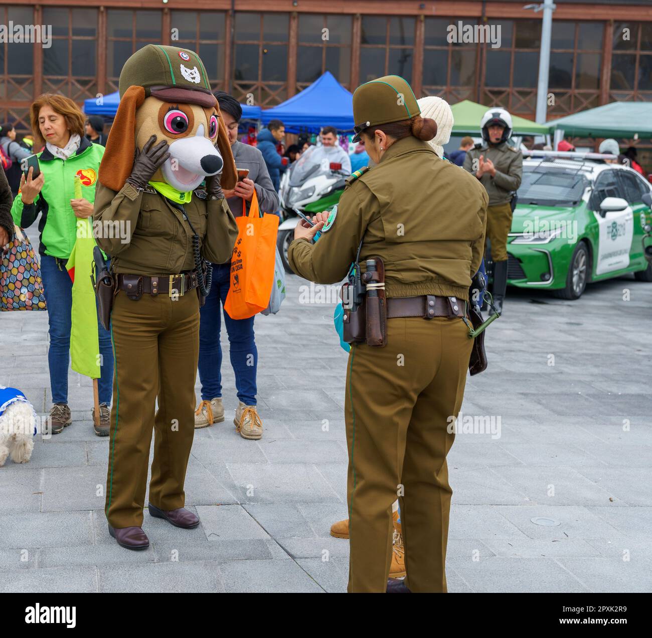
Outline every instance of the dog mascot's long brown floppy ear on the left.
<svg viewBox="0 0 652 638"><path fill-rule="evenodd" d="M145 89L131 86L120 98L106 150L100 164L100 184L121 190L134 167L136 149L136 111L145 102Z"/></svg>

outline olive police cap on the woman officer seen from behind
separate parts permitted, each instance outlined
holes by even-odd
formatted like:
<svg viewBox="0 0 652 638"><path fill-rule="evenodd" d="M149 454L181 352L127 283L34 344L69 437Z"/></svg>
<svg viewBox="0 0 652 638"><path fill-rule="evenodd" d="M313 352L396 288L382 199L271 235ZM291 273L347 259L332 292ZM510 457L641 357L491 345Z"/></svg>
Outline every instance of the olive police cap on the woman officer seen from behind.
<svg viewBox="0 0 652 638"><path fill-rule="evenodd" d="M383 76L361 84L353 93L353 141L359 141L368 126L400 122L420 113L412 88L400 76Z"/></svg>

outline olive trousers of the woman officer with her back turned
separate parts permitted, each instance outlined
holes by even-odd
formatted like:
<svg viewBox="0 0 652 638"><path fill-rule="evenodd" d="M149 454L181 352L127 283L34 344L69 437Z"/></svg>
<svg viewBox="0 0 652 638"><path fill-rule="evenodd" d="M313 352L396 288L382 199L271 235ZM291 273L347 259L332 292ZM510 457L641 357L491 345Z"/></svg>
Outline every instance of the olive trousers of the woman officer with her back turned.
<svg viewBox="0 0 652 638"><path fill-rule="evenodd" d="M352 345L346 379L349 592L385 592L398 495L406 585L446 592L452 490L449 422L462 407L473 341L460 318L387 319L383 348Z"/></svg>

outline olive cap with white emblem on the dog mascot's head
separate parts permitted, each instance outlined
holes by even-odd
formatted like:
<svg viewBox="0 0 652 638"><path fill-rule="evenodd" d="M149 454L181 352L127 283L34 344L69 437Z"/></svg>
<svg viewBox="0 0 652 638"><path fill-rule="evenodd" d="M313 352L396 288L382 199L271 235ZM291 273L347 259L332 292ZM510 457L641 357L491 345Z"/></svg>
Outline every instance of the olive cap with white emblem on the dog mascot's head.
<svg viewBox="0 0 652 638"><path fill-rule="evenodd" d="M178 46L147 44L132 55L120 72L120 97L130 86L165 102L215 106L206 69L197 53Z"/></svg>

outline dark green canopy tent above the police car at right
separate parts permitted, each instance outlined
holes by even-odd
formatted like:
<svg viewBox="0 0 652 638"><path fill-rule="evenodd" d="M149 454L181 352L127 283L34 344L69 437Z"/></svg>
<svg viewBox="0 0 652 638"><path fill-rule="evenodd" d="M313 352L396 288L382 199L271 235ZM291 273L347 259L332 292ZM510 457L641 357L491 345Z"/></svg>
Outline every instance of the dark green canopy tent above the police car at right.
<svg viewBox="0 0 652 638"><path fill-rule="evenodd" d="M546 124L555 139L652 138L652 102L612 102Z"/></svg>

